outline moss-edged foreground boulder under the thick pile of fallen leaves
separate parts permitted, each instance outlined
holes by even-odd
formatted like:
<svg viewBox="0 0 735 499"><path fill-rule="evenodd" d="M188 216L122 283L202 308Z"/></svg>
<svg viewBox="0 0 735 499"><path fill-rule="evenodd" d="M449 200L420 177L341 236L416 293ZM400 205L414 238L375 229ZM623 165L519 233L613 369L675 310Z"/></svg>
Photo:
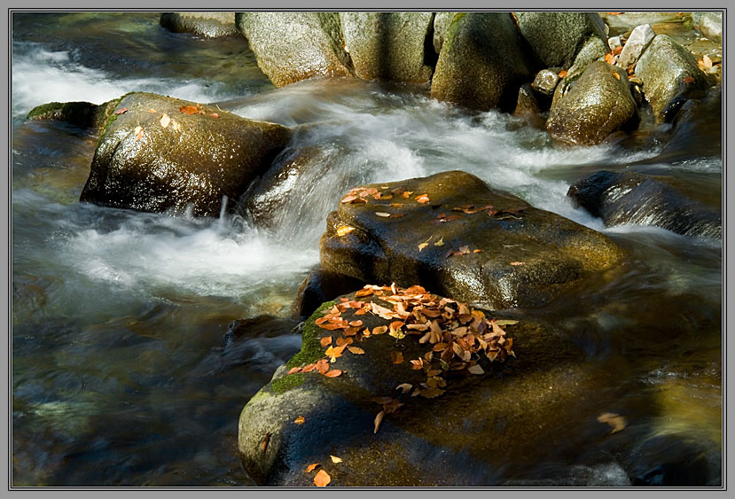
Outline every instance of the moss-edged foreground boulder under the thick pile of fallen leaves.
<svg viewBox="0 0 735 499"><path fill-rule="evenodd" d="M375 296L345 298L390 307ZM327 302L320 311L331 307ZM364 355L345 349L329 364L342 371L337 378L317 371L286 374L324 358L320 339L340 337L340 331L315 324L320 311L304 325L301 352L278 368L240 414L239 453L258 485L313 487L320 470L330 475L329 487L497 485L509 465L522 477L528 461L547 459L548 447L539 442L548 442L550 432L555 448L572 453L589 446L590 435L604 438L609 432L595 417L582 427L559 425L578 418L584 401L598 397L598 384L606 382L600 380L617 373L590 369L579 347L543 324L521 319L504 325L516 358L490 364L484 375L448 376L446 393L428 399L396 390L399 384L426 382L410 360L430 346L413 335L395 339L386 333L355 342L351 347ZM363 321L360 327L371 331L391 322L371 313L355 316L353 310L342 316ZM395 351L403 363L392 361ZM405 405L387 414L376 433L382 406L371 398L379 396ZM598 402L602 410L605 404ZM294 423L297 417L304 423ZM330 456L342 462L332 463ZM306 472L309 464L320 465Z"/></svg>

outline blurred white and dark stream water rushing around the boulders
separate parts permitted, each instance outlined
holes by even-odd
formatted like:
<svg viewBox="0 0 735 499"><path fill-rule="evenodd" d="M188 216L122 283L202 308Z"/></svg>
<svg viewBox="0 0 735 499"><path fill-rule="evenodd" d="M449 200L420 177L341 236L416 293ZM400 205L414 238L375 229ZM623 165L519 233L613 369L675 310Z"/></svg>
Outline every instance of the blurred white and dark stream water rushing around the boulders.
<svg viewBox="0 0 735 499"><path fill-rule="evenodd" d="M269 230L246 214L200 220L80 204L98 137L24 116L50 101L99 104L132 90L308 125L296 144L318 146L322 167L301 180ZM715 125L719 119L711 117ZM650 136L666 135L666 127L647 126ZM638 165L719 207L717 148L689 148L664 161L657 160L661 141L638 144L645 145L562 148L510 115L468 114L371 82L276 90L244 39L168 33L154 13L14 13L13 485L253 485L238 461L238 414L299 349L300 337L287 328L246 335L235 358L224 355L228 324L289 316L298 286L318 263L325 216L349 188L450 169L629 249L622 278L536 315L582 346L587 362L621 371L599 393L617 397L630 439L674 435L708 449L696 452L707 480L718 483L722 244L651 227L608 229L566 197L583 175ZM589 413L610 408L590 405ZM588 416L565 424L600 425ZM655 460L671 451L661 444L646 452ZM630 484L614 454L583 463L549 456L499 482Z"/></svg>

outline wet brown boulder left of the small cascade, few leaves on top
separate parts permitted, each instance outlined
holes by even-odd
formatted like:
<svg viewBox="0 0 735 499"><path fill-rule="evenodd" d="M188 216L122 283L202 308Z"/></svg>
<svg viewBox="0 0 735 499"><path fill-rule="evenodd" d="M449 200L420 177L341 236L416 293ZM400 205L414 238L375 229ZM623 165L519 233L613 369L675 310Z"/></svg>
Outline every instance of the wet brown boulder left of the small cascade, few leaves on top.
<svg viewBox="0 0 735 499"><path fill-rule="evenodd" d="M183 106L200 113L182 112ZM150 93L122 97L115 109L122 108L127 111L113 114L99 139L82 202L217 216L223 197L238 199L292 136L275 123Z"/></svg>

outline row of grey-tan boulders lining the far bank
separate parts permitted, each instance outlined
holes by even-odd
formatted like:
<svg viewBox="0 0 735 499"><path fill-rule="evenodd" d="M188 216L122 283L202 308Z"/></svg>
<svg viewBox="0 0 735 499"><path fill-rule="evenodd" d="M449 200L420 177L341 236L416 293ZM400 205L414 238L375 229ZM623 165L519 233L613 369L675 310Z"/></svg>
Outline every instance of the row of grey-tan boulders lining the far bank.
<svg viewBox="0 0 735 499"><path fill-rule="evenodd" d="M671 23L696 22L722 43L714 12L608 12L607 24L594 12L215 14L227 25L222 33L245 35L277 87L313 76L422 85L437 100L545 121L565 144L599 144L635 129L643 99L657 121L672 121L721 71L719 60L698 65L665 33ZM196 12L163 14L161 24L208 35L215 14L202 12L199 28Z"/></svg>

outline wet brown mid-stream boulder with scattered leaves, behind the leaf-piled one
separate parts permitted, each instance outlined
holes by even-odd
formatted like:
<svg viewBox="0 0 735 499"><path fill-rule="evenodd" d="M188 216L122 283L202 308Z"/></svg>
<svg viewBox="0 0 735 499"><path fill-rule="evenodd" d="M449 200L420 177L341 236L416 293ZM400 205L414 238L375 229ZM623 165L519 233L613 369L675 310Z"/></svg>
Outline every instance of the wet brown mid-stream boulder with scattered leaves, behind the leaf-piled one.
<svg viewBox="0 0 735 499"><path fill-rule="evenodd" d="M465 172L368 187L413 194L366 204L340 202L319 245L325 271L371 283L423 285L497 309L541 307L585 277L614 269L622 258L622 250L602 234L490 189ZM430 202L419 203L420 194ZM385 206L395 202L403 206ZM489 205L495 214L453 210ZM442 222L442 214L452 218ZM341 227L354 230L340 236ZM462 246L470 253L448 256Z"/></svg>

